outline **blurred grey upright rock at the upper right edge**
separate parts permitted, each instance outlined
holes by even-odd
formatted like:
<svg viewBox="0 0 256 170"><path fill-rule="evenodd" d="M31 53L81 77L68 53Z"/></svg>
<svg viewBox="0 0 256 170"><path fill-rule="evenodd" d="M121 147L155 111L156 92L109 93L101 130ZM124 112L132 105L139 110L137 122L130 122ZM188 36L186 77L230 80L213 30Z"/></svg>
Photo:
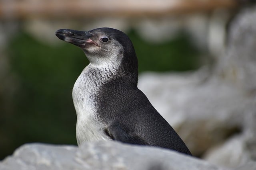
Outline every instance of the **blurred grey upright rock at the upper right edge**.
<svg viewBox="0 0 256 170"><path fill-rule="evenodd" d="M229 29L226 54L219 57L218 74L245 90L256 90L256 6L242 10Z"/></svg>

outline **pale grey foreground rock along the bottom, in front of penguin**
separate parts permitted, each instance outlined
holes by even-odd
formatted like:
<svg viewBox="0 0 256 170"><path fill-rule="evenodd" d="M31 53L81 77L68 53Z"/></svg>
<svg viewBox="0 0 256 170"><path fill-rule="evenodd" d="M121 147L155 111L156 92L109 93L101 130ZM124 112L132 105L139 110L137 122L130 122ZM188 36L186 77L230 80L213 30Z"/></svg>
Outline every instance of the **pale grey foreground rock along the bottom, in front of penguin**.
<svg viewBox="0 0 256 170"><path fill-rule="evenodd" d="M85 143L82 147L26 144L0 162L1 170L226 170L178 152L122 144Z"/></svg>

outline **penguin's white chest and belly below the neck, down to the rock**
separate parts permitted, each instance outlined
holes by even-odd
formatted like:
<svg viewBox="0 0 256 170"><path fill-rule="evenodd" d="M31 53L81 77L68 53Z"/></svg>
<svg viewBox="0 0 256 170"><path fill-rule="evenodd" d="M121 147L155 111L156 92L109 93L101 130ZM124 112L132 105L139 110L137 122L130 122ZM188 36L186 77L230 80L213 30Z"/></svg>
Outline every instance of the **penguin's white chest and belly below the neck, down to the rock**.
<svg viewBox="0 0 256 170"><path fill-rule="evenodd" d="M98 121L96 114L96 94L102 85L100 75L89 74L90 67L86 67L76 80L72 97L76 109L76 139L78 145L85 141L106 140L109 137L104 133L104 124Z"/></svg>

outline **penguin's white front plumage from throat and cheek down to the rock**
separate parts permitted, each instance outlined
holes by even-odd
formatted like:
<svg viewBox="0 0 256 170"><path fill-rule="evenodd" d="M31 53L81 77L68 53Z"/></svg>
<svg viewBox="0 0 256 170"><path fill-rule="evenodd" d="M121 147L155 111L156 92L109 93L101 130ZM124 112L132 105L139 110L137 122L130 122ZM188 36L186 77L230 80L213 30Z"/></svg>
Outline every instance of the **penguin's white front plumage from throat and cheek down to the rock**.
<svg viewBox="0 0 256 170"><path fill-rule="evenodd" d="M121 47L122 45L116 50L111 50L106 53L106 56L86 55L90 64L84 68L76 80L72 92L77 115L76 139L78 145L85 141L110 139L104 133L106 125L100 123L97 119L94 97L102 84L110 80L120 66L123 56L120 56L118 51L122 50Z"/></svg>

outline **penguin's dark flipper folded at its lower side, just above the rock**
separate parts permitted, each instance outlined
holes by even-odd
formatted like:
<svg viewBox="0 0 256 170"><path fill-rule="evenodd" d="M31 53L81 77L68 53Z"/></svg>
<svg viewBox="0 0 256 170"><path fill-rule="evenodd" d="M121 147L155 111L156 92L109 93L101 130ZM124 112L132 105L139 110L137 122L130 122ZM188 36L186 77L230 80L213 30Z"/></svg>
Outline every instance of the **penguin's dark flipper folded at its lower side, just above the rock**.
<svg viewBox="0 0 256 170"><path fill-rule="evenodd" d="M117 123L110 125L107 129L105 129L106 135L113 140L136 145L149 145L142 137L127 133L128 131L129 129Z"/></svg>

